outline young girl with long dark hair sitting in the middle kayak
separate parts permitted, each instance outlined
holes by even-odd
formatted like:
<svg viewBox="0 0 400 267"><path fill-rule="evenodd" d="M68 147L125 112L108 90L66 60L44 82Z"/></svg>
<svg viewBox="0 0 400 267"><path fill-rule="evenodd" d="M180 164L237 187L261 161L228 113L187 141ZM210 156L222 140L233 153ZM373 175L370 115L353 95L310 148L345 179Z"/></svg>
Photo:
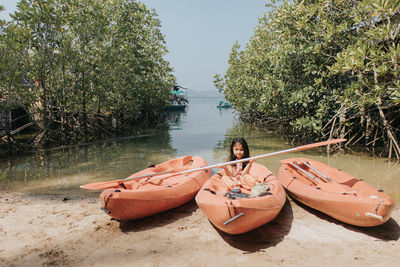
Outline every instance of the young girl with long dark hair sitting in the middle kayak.
<svg viewBox="0 0 400 267"><path fill-rule="evenodd" d="M245 159L250 157L249 147L244 138L235 138L232 141L228 161ZM247 190L256 184L256 179L249 174L251 165L255 160L240 162L229 166L221 166L225 170L224 176L221 177L222 181L229 189L234 187L243 187Z"/></svg>

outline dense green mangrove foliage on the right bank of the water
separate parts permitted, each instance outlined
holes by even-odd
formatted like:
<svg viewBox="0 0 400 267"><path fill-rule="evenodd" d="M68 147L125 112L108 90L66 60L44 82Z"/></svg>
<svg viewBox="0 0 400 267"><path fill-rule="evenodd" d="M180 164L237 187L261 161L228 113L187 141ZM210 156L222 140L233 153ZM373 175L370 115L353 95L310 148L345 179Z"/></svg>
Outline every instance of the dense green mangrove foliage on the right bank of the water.
<svg viewBox="0 0 400 267"><path fill-rule="evenodd" d="M364 135L367 143L373 125L384 143L396 143L399 3L271 5L245 49L233 46L229 68L215 76L215 86L243 118L293 138ZM388 129L397 138L383 134Z"/></svg>

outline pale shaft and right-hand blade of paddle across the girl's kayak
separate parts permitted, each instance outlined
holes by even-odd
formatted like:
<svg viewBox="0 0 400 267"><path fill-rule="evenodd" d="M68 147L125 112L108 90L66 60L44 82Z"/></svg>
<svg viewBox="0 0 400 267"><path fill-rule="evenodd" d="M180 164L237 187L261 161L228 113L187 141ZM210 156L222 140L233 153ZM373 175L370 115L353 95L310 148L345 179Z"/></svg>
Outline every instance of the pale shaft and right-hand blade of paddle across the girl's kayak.
<svg viewBox="0 0 400 267"><path fill-rule="evenodd" d="M310 148L314 148L314 147L325 146L325 145L329 145L329 144L336 144L336 143L340 143L340 142L343 142L343 141L346 141L346 139L332 139L332 140L329 140L329 141L323 141L323 142L308 144L308 145L304 145L304 146L293 147L293 148L289 148L289 149L285 149L285 150L281 150L281 151L276 151L276 152L271 152L271 153L267 153L267 154L263 154L263 155L250 157L250 158L232 160L232 161L228 161L228 162L224 162L224 163L218 163L218 164L204 166L204 167L200 167L200 168L196 168L196 169L190 169L190 170L186 170L186 171L176 172L176 173L173 173L173 174L161 175L161 176L158 176L158 178L160 178L160 179L169 178L169 177L172 177L172 176L175 176L175 175L180 175L180 174L185 174L185 173L191 173L191 172L196 172L196 171L201 171L201 170L209 170L209 169L212 169L212 168L220 168L220 167L225 166L225 165L231 165L231 164L250 161L250 160L255 160L255 159L267 158L267 157L276 156L276 155L289 153L289 152L294 152L294 151L302 151L302 150L306 150L306 149L310 149ZM140 176L139 177L125 178L125 179L122 179L121 181L129 181L129 180L138 179L138 178L140 178Z"/></svg>

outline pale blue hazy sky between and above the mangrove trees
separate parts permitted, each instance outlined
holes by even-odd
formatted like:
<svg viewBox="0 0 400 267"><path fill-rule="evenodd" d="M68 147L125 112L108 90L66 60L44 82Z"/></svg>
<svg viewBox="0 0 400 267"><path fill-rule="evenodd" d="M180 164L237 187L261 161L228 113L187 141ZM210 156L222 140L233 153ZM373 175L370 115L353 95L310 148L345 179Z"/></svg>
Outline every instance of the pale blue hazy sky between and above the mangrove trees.
<svg viewBox="0 0 400 267"><path fill-rule="evenodd" d="M10 20L18 0L0 0ZM243 49L268 0L141 0L155 9L161 21L168 55L177 83L189 90L216 90L216 73L224 75L233 44Z"/></svg>

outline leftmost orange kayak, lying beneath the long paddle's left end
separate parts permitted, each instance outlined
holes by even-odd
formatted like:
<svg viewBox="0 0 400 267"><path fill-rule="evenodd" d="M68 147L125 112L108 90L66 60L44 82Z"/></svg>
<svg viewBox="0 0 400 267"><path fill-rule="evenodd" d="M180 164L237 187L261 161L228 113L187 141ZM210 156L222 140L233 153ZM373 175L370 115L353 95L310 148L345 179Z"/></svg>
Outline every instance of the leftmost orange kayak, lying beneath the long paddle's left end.
<svg viewBox="0 0 400 267"><path fill-rule="evenodd" d="M132 220L178 207L191 200L204 182L210 178L209 170L173 175L173 172L207 166L199 156L186 156L149 167L128 178L157 173L129 180L118 188L106 189L100 194L102 210L117 220ZM164 173L171 172L171 175Z"/></svg>

